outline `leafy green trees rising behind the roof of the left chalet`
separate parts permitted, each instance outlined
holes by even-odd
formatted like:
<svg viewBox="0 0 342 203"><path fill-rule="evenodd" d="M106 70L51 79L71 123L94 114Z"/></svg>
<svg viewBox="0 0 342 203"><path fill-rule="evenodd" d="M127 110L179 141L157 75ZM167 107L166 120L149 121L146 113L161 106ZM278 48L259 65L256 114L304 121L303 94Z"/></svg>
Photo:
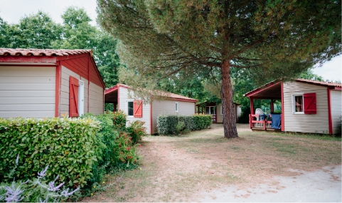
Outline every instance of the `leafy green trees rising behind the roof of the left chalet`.
<svg viewBox="0 0 342 203"><path fill-rule="evenodd" d="M62 15L63 24L55 24L48 14L24 16L18 24L0 18L1 48L92 49L106 87L118 83L120 66L117 40L90 24L85 9L71 6Z"/></svg>

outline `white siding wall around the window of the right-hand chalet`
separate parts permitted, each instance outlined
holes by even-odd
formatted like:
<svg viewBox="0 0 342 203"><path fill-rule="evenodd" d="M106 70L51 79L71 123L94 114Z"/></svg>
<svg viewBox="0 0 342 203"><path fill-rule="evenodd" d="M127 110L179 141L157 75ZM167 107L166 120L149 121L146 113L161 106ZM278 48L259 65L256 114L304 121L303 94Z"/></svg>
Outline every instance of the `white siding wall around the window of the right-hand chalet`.
<svg viewBox="0 0 342 203"><path fill-rule="evenodd" d="M284 130L328 133L328 93L326 87L307 83L284 83ZM293 114L292 94L316 93L317 114Z"/></svg>

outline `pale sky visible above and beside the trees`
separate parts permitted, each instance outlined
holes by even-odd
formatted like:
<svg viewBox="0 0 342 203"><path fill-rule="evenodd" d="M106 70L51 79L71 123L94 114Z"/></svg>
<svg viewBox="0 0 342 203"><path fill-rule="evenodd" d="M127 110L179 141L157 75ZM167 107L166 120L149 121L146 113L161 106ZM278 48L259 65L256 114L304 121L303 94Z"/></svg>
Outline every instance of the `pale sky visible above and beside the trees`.
<svg viewBox="0 0 342 203"><path fill-rule="evenodd" d="M84 8L96 24L96 0L0 0L0 17L9 24L17 24L23 16L36 14L38 10L48 13L56 23L62 24L60 15L69 7ZM314 68L313 72L322 76L324 80L342 81L342 57L338 56Z"/></svg>

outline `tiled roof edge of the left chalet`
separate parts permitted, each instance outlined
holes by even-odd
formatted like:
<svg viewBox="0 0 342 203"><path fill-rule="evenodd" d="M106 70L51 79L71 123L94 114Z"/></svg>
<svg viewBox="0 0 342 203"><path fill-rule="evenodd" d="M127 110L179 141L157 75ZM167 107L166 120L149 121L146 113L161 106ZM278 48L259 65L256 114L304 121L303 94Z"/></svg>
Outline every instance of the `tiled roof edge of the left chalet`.
<svg viewBox="0 0 342 203"><path fill-rule="evenodd" d="M24 49L24 48L0 48L0 56L70 56L79 53L90 53L89 49Z"/></svg>

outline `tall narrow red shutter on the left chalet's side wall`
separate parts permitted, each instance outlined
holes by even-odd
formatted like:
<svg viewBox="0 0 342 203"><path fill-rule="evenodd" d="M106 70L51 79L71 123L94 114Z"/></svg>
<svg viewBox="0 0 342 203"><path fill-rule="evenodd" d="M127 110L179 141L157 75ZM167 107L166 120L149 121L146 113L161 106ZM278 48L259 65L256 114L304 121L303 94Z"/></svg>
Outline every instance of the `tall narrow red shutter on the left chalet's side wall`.
<svg viewBox="0 0 342 203"><path fill-rule="evenodd" d="M69 115L78 117L78 79L70 76L69 78Z"/></svg>

